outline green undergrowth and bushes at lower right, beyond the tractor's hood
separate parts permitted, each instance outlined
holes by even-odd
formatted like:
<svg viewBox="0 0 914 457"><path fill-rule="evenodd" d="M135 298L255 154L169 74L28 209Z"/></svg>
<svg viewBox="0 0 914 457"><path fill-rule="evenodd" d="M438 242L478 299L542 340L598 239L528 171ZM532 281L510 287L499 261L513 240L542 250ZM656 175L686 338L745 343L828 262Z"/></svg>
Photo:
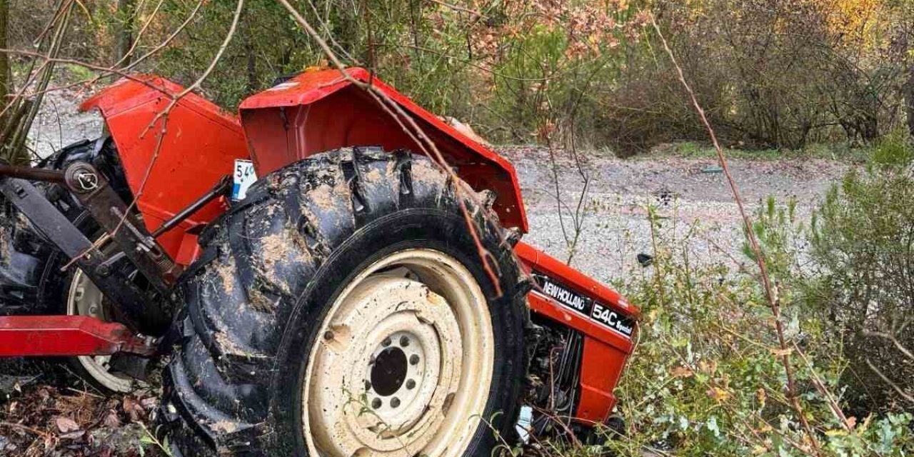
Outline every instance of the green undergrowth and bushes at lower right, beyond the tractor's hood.
<svg viewBox="0 0 914 457"><path fill-rule="evenodd" d="M911 382L899 376L914 363L906 357L912 157L909 136L890 135L863 169L848 172L816 205L808 223L793 201L769 199L755 214L753 231L781 308L803 419L821 449L787 397L784 351L752 251L721 251L717 263L698 266L699 222L677 229L680 219L657 218L649 208L653 263L620 284L643 311L638 345L616 391L626 432L607 432L600 446L552 443L548 453L914 452L906 403ZM861 382L867 366L873 371ZM861 393L875 391L878 407L864 408Z"/></svg>

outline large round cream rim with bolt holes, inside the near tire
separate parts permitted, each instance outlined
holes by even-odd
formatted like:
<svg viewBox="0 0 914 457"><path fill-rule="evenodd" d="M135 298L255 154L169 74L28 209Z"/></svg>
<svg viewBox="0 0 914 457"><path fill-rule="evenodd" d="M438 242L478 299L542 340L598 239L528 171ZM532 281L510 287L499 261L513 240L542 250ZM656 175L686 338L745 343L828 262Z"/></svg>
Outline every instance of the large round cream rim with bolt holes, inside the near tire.
<svg viewBox="0 0 914 457"><path fill-rule="evenodd" d="M377 261L318 335L303 386L312 455L462 455L483 419L494 337L460 261L419 249Z"/></svg>

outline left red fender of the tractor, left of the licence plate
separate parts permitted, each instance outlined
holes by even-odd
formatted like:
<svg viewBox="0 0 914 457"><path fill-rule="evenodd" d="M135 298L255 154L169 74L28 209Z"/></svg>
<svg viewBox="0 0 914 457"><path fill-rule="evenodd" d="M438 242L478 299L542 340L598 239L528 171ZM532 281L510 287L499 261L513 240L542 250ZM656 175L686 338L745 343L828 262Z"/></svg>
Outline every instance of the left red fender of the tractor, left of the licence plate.
<svg viewBox="0 0 914 457"><path fill-rule="evenodd" d="M157 77L120 80L80 105L104 117L146 228L158 228L230 175L237 158L249 158L241 126L217 105ZM203 207L158 240L179 263L196 257L196 237L186 231L225 211L225 201Z"/></svg>

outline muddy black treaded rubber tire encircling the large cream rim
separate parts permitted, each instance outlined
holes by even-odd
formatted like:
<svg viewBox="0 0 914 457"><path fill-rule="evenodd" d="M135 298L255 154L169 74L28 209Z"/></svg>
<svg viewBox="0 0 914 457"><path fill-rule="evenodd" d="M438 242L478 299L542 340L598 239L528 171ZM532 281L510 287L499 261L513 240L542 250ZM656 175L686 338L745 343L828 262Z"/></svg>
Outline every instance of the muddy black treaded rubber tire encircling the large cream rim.
<svg viewBox="0 0 914 457"><path fill-rule="evenodd" d="M529 282L491 202L466 198L498 271L503 293L495 293L455 186L466 185L426 157L345 148L260 179L207 228L203 255L181 280L183 341L165 375L161 430L175 455L307 455L303 377L323 316L358 271L409 248L460 260L492 316L494 375L483 417L493 424L481 422L463 455L490 455L494 430L513 436Z"/></svg>

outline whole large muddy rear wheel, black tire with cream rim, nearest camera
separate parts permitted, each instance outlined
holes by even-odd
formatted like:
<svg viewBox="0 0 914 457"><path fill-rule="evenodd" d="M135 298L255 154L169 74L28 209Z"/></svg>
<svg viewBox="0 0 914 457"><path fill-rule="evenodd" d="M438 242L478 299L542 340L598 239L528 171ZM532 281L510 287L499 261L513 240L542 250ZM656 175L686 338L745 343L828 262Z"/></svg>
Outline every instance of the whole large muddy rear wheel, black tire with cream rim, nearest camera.
<svg viewBox="0 0 914 457"><path fill-rule="evenodd" d="M491 194L472 192L426 157L368 148L251 186L181 280L160 419L173 453L490 456L511 441L529 282Z"/></svg>

